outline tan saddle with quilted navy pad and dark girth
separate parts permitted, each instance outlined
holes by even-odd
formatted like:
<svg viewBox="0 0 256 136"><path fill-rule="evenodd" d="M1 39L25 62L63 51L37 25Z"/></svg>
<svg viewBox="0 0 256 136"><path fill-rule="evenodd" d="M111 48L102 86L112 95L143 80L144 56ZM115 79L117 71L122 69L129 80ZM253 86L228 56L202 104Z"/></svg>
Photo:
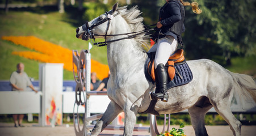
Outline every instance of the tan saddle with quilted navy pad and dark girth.
<svg viewBox="0 0 256 136"><path fill-rule="evenodd" d="M148 58L146 59L144 65L144 73L146 79L153 84L156 82L156 76L154 72L154 57L156 52L148 53ZM167 90L170 88L182 86L184 84L189 83L193 79L192 71L190 67L186 63L186 59L183 55L183 50L178 49L176 50L167 61L165 65L165 69L167 71L168 83L167 83ZM150 97L150 94L149 94ZM141 113L150 113L156 116L159 116L159 113L154 110L156 106L157 100L151 100L148 109Z"/></svg>

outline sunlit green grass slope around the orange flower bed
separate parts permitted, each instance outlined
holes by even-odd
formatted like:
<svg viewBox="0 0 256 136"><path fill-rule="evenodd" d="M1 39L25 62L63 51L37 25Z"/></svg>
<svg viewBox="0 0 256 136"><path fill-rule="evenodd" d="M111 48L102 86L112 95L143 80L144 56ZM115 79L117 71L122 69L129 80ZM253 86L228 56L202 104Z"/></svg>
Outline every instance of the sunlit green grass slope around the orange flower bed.
<svg viewBox="0 0 256 136"><path fill-rule="evenodd" d="M36 36L70 50L78 50L80 52L81 49L88 49L88 41L75 37L75 29L79 26L73 26L70 22L75 22L75 20L66 18L65 14L59 14L58 12L36 14L28 11L10 11L8 14L1 13L0 18L0 37ZM10 41L0 40L1 80L8 80L12 71L16 70L16 63L19 62L24 63L25 71L30 77L38 79L39 63L41 62L11 54L13 51L26 50L30 49L15 45ZM90 50L91 58L107 64L106 50L106 47L98 48L94 46ZM64 79L73 79L73 73L64 70Z"/></svg>

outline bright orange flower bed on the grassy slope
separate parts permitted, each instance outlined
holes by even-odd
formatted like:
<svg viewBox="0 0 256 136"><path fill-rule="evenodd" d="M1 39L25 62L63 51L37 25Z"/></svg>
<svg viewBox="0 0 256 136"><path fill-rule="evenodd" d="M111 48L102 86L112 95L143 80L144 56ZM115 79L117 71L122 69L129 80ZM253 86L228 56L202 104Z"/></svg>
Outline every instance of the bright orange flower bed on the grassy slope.
<svg viewBox="0 0 256 136"><path fill-rule="evenodd" d="M60 45L41 40L35 36L3 36L3 40L14 42L37 52L12 52L12 54L46 63L64 63L64 69L73 71L72 50ZM108 65L91 59L91 72L95 72L100 80L108 76Z"/></svg>

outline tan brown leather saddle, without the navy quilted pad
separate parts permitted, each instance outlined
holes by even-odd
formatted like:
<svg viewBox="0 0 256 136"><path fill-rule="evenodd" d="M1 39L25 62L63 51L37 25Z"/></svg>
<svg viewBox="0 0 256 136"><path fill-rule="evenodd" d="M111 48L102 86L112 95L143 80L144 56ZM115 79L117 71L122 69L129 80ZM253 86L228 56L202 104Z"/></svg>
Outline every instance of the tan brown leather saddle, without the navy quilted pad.
<svg viewBox="0 0 256 136"><path fill-rule="evenodd" d="M167 63L165 66L167 66L167 75L169 76L170 80L173 80L175 73L177 70L175 70L174 65L181 65L186 62L186 59L183 55L184 50L178 49L176 50L171 56L169 57ZM154 72L154 54L152 55L152 58L150 59L148 63L148 74L151 76L152 80L156 82L156 76ZM178 72L178 71L177 71ZM179 73L178 73L179 74ZM180 76L181 74L179 74Z"/></svg>

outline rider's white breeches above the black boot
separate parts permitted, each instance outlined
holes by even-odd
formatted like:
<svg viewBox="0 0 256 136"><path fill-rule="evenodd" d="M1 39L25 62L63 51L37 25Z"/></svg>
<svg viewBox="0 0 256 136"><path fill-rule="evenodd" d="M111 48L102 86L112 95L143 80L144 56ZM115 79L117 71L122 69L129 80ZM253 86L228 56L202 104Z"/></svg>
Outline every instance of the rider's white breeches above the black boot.
<svg viewBox="0 0 256 136"><path fill-rule="evenodd" d="M158 40L156 44L150 48L148 52L156 52L156 57L154 59L154 67L160 63L165 63L168 61L169 57L177 49L178 42L173 36L166 36Z"/></svg>

